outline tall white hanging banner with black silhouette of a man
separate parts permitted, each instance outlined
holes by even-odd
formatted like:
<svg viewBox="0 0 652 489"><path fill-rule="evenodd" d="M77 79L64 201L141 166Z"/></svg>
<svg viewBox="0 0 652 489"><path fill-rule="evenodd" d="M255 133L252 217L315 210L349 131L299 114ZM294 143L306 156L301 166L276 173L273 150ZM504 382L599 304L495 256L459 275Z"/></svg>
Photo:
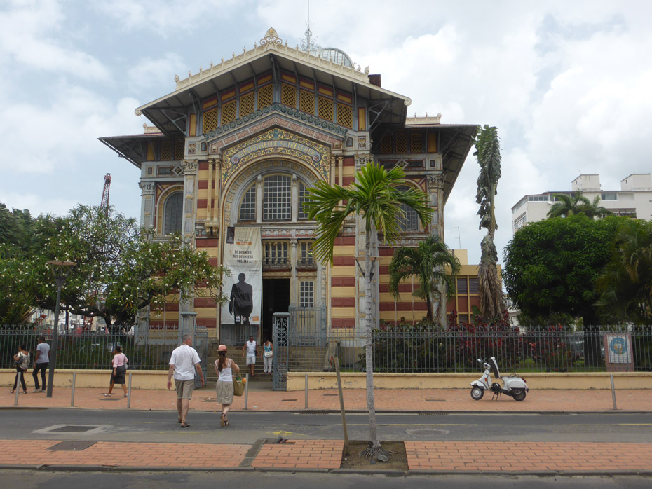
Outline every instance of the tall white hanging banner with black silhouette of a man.
<svg viewBox="0 0 652 489"><path fill-rule="evenodd" d="M260 228L228 228L224 244L224 294L222 324L260 324L262 299L262 246Z"/></svg>

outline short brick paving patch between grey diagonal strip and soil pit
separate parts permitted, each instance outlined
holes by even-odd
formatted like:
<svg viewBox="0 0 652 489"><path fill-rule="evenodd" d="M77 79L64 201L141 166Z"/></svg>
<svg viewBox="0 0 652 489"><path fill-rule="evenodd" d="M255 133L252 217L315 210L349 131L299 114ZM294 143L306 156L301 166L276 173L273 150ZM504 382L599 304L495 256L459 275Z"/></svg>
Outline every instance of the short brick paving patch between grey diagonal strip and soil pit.
<svg viewBox="0 0 652 489"><path fill-rule="evenodd" d="M292 440L263 445L252 467L274 469L339 469L344 441Z"/></svg>

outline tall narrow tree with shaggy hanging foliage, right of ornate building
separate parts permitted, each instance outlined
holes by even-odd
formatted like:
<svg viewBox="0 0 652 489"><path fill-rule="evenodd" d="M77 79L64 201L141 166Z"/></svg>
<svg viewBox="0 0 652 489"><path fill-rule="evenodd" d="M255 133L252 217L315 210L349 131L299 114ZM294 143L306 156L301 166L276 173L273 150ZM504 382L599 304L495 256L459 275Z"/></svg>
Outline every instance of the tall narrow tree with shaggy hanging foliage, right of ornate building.
<svg viewBox="0 0 652 489"><path fill-rule="evenodd" d="M486 321L500 315L507 307L503 296L501 279L498 277L498 252L494 245L496 224L495 198L498 193L498 180L501 178L501 144L498 130L489 125L478 128L475 139L475 153L480 174L477 177L475 201L480 204L479 229L486 228L480 249L480 266L477 268L478 296L480 309Z"/></svg>

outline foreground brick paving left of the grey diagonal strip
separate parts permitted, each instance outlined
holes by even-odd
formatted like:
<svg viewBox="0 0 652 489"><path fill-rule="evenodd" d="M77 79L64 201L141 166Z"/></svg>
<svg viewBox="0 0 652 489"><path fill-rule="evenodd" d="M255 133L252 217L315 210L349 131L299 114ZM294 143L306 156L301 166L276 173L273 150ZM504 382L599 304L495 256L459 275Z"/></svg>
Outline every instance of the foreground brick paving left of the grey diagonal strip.
<svg viewBox="0 0 652 489"><path fill-rule="evenodd" d="M0 440L0 465L102 465L104 467L238 467L249 445L98 441L85 450L50 451L58 440L30 440L29 450Z"/></svg>

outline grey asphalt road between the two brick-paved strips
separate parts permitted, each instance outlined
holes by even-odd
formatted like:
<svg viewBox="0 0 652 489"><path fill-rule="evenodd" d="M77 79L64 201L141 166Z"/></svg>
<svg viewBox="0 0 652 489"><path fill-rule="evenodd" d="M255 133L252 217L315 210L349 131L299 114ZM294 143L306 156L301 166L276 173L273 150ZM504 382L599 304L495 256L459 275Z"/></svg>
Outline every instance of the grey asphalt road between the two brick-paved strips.
<svg viewBox="0 0 652 489"><path fill-rule="evenodd" d="M181 443L247 443L258 439L342 439L341 415L233 412L229 427L217 413L191 412L180 429L173 411L83 409L1 410L2 439L57 439ZM349 439L367 439L368 418L346 417ZM651 413L379 414L379 438L402 441L620 441L652 440ZM77 430L77 431L74 431Z"/></svg>

